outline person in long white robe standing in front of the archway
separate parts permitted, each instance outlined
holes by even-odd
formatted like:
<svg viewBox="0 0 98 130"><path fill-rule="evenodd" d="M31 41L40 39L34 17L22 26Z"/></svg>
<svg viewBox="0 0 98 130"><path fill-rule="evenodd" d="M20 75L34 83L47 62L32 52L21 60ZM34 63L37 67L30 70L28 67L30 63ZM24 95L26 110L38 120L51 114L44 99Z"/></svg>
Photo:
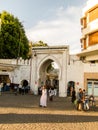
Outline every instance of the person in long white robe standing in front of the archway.
<svg viewBox="0 0 98 130"><path fill-rule="evenodd" d="M46 89L46 86L42 87L42 95L40 97L40 107L47 107L47 89Z"/></svg>

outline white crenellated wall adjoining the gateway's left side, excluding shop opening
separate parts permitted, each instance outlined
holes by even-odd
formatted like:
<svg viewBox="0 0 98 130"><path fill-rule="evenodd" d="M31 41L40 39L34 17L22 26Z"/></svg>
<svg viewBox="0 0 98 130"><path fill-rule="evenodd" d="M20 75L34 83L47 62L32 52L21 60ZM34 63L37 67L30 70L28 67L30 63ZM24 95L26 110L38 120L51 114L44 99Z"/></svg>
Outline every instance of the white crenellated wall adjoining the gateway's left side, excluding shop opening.
<svg viewBox="0 0 98 130"><path fill-rule="evenodd" d="M0 59L0 63L5 65L5 70L6 66L14 68L13 71L0 71L0 75L9 75L11 82L19 84L23 79L30 81L30 60L19 60L17 64L16 59Z"/></svg>

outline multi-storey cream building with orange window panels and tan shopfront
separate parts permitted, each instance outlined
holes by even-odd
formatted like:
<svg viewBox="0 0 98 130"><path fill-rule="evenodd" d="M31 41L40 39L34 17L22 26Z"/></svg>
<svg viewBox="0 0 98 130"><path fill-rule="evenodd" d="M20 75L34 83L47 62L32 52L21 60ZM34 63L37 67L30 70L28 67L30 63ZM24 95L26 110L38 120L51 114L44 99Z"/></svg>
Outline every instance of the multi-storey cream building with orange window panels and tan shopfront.
<svg viewBox="0 0 98 130"><path fill-rule="evenodd" d="M81 53L84 62L84 87L98 96L98 0L88 0L81 18Z"/></svg>

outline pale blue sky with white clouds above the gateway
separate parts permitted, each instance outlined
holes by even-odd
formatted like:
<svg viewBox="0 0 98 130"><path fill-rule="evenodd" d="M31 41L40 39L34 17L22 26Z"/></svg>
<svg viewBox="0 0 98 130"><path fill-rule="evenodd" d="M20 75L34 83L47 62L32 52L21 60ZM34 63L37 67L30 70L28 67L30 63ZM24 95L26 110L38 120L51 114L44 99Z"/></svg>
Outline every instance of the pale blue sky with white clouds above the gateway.
<svg viewBox="0 0 98 130"><path fill-rule="evenodd" d="M69 45L70 53L81 51L82 9L87 0L0 0L7 11L23 23L30 41Z"/></svg>

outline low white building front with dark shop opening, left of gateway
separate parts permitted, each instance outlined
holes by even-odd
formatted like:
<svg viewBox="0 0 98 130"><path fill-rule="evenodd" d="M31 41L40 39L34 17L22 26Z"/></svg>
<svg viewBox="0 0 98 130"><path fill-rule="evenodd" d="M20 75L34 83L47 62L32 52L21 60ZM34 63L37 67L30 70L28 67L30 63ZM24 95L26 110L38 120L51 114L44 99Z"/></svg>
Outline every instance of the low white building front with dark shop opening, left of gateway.
<svg viewBox="0 0 98 130"><path fill-rule="evenodd" d="M0 59L0 83L19 85L23 80L30 82L30 60Z"/></svg>

